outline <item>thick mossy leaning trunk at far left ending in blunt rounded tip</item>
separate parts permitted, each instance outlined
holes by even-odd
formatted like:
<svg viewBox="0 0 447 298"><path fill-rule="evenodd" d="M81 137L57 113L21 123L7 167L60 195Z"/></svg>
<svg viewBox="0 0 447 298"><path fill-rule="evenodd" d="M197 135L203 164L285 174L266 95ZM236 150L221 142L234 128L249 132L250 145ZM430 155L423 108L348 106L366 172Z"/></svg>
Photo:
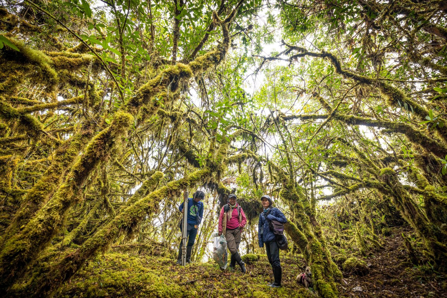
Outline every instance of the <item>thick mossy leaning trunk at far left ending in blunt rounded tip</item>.
<svg viewBox="0 0 447 298"><path fill-rule="evenodd" d="M51 200L31 218L21 233L8 240L0 255L0 276L4 278L5 286L21 277L25 272L25 264L34 260L55 235L67 210L82 198L81 189L88 189L94 177L88 179L94 175L101 162L107 161L110 152L121 142L132 123L131 114L116 113L110 126L97 134L87 145L84 154L78 158ZM10 274L12 268L21 270Z"/></svg>

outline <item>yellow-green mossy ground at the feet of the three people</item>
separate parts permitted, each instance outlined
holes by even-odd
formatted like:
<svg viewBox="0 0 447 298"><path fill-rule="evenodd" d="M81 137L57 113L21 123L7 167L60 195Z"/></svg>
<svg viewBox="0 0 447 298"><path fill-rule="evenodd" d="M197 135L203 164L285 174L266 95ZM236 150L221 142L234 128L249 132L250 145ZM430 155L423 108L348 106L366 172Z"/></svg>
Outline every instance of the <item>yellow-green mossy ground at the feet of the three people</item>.
<svg viewBox="0 0 447 298"><path fill-rule="evenodd" d="M107 253L89 261L55 297L315 297L295 281L303 265L297 258L281 256L279 289L268 286L273 274L265 255L247 264L245 275L223 271L213 260L186 267L174 263L157 256Z"/></svg>

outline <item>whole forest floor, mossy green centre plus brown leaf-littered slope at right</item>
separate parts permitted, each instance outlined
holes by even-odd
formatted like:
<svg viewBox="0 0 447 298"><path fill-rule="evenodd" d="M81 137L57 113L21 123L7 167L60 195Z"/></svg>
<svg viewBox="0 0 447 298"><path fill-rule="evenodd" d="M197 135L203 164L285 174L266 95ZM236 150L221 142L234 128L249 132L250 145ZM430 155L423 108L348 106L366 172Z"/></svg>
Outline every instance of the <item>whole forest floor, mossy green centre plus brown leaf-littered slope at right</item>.
<svg viewBox="0 0 447 298"><path fill-rule="evenodd" d="M364 258L370 272L344 273L340 297L447 298L447 277L429 265L413 266L395 228L384 250ZM282 252L281 252L282 254ZM295 277L304 260L282 255L283 287L271 289L273 275L267 257L247 264L247 274L222 271L213 260L176 266L160 256L107 253L98 256L66 283L57 297L316 297ZM236 269L238 269L236 264Z"/></svg>

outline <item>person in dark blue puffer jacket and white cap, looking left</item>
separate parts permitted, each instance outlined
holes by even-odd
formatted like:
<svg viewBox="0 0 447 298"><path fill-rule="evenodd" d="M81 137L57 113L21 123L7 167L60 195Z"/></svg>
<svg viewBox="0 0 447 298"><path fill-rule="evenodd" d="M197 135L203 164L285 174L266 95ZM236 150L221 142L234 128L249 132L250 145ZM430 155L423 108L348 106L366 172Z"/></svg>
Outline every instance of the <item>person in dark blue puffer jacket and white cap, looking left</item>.
<svg viewBox="0 0 447 298"><path fill-rule="evenodd" d="M279 261L279 248L278 243L276 243L276 236L273 234L273 231L270 230L268 220L276 220L278 222L285 223L287 222L287 219L283 212L281 212L278 208L272 207L272 199L270 196L263 195L261 197L261 202L262 206L264 207L264 211L259 214L259 222L257 226L259 247L264 247L264 243L266 243L267 257L269 258L270 265L272 266L274 276L274 282L271 283L270 286L272 288L278 288L281 286L283 271Z"/></svg>

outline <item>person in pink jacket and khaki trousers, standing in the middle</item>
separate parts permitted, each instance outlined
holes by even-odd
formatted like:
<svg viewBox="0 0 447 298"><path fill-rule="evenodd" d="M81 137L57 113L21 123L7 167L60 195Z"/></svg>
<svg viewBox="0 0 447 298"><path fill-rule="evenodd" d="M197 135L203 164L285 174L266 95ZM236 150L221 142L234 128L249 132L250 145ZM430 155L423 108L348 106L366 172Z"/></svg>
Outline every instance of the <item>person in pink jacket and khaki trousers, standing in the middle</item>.
<svg viewBox="0 0 447 298"><path fill-rule="evenodd" d="M239 264L240 271L245 273L245 263L239 255L240 232L245 227L247 218L244 210L236 203L236 195L234 193L228 196L228 204L222 207L219 215L219 235L225 235L228 249L231 253L230 269L234 270L234 266Z"/></svg>

